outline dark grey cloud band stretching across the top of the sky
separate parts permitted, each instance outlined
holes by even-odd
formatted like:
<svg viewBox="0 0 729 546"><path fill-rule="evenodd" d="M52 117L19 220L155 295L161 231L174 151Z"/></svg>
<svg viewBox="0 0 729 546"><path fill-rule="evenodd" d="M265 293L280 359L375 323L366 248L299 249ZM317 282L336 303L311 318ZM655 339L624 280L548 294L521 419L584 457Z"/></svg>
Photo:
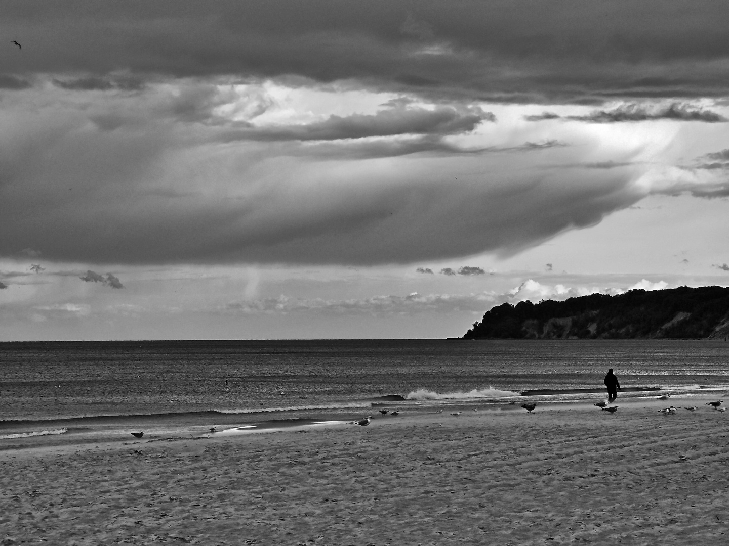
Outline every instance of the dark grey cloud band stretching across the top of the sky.
<svg viewBox="0 0 729 546"><path fill-rule="evenodd" d="M725 95L729 5L698 0L7 1L10 74L305 76L515 102ZM86 76L87 75L87 76Z"/></svg>

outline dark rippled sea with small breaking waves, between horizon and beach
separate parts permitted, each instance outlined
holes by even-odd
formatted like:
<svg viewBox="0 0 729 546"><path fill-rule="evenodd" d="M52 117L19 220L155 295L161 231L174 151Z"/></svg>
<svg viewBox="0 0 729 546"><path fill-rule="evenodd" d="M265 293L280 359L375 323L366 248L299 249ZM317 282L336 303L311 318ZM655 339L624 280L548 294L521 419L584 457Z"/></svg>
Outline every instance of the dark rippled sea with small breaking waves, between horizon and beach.
<svg viewBox="0 0 729 546"><path fill-rule="evenodd" d="M4 440L201 434L400 414L729 392L729 342L343 339L0 343ZM156 427L156 428L155 428ZM132 438L133 439L133 438ZM5 442L5 446L9 443Z"/></svg>

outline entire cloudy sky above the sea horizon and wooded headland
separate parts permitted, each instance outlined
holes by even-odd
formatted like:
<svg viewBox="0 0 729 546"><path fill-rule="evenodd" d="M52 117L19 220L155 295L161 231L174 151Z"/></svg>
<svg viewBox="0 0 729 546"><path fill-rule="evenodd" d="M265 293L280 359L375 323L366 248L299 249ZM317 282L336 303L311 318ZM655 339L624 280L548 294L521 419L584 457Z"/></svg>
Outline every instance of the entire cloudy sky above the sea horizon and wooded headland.
<svg viewBox="0 0 729 546"><path fill-rule="evenodd" d="M445 338L729 286L725 1L2 15L0 341Z"/></svg>

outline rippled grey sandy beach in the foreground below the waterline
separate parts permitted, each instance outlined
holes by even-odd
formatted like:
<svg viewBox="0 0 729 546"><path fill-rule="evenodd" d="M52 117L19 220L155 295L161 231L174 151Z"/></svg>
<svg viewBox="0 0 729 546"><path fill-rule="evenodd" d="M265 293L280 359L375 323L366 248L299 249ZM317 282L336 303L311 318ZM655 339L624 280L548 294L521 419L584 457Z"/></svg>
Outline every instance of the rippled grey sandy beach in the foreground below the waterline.
<svg viewBox="0 0 729 546"><path fill-rule="evenodd" d="M729 412L704 401L6 449L0 545L727 544Z"/></svg>

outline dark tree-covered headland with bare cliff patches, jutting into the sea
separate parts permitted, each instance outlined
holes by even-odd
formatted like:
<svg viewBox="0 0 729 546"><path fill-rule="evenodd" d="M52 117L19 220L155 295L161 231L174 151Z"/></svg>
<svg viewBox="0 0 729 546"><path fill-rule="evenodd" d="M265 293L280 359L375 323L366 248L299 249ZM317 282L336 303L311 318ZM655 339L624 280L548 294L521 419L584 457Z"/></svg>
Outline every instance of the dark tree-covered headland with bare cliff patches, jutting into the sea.
<svg viewBox="0 0 729 546"><path fill-rule="evenodd" d="M566 301L502 304L464 339L630 339L729 337L729 288L631 290Z"/></svg>

